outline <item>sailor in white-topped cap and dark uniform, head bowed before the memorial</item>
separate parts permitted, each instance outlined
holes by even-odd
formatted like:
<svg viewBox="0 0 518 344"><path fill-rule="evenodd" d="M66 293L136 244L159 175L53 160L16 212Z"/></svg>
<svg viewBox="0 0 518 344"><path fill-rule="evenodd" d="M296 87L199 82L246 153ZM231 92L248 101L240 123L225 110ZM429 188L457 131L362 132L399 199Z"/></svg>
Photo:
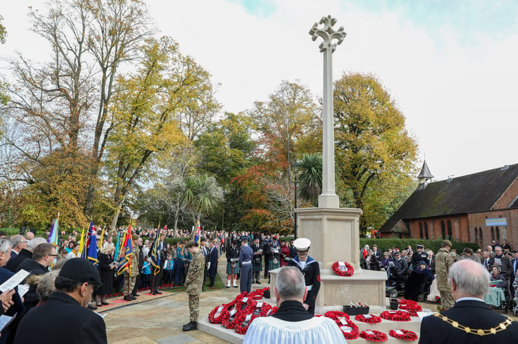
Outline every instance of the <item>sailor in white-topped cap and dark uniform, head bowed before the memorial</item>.
<svg viewBox="0 0 518 344"><path fill-rule="evenodd" d="M295 246L298 255L288 262L288 266L296 266L302 271L307 288L307 296L303 305L309 314L315 314L315 299L318 290L320 290L320 266L318 266L318 261L308 255L309 246L311 246L309 239L298 238L293 241L293 246Z"/></svg>

